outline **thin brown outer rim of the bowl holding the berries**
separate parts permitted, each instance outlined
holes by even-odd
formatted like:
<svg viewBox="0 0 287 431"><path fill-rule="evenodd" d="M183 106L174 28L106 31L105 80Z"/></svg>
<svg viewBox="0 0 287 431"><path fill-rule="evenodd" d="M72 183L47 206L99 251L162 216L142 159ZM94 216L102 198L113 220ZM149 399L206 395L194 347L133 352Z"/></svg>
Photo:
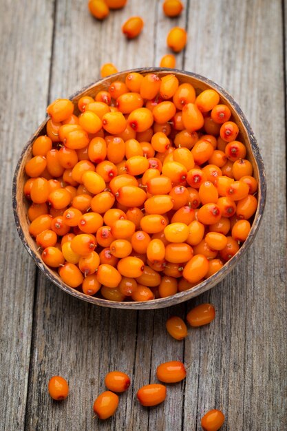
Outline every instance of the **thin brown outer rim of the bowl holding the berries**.
<svg viewBox="0 0 287 431"><path fill-rule="evenodd" d="M105 78L100 78L99 80L86 85L85 87L81 88L81 90L75 92L70 96L70 100L74 100L74 98L80 96L83 92L86 92L89 90L89 88L93 88L95 85L98 85L100 83L105 83L109 79L116 79L117 77L122 77L123 74L129 74L131 72L137 72L140 74L147 74L147 73L158 73L160 74L181 74L181 75L187 75L191 78L194 78L198 81L202 81L205 85L209 85L213 87L213 89L217 90L219 92L220 96L223 96L226 98L228 103L233 107L235 112L237 113L237 116L240 118L242 125L246 129L246 135L248 136L248 140L251 145L251 151L253 153L253 156L255 158L255 162L257 164L258 168L258 176L259 176L259 193L258 193L258 204L257 204L257 210L255 212L255 218L253 220L253 223L251 225L251 231L248 234L248 238L244 241L244 244L240 247L240 250L237 251L237 253L230 259L228 262L222 266L222 269L220 271L217 271L217 273L211 275L211 277L207 278L206 280L203 280L200 284L197 286L188 289L187 291L178 292L175 295L171 295L169 297L163 297L158 299L152 299L147 302L115 302L115 301L109 301L108 299L102 299L94 296L85 295L84 293L81 293L75 288L72 288L70 286L67 286L67 284L61 282L58 280L54 273L52 273L52 270L46 266L43 261L34 253L34 251L30 248L26 238L25 233L23 232L23 229L21 227L21 222L19 218L19 204L17 202L17 189L18 189L18 180L19 180L19 169L21 167L21 162L23 159L23 156L25 153L30 149L30 146L32 145L32 142L34 141L34 138L43 127L45 127L47 120L49 119L47 116L45 120L39 125L38 129L36 129L36 132L32 134L30 139L28 140L28 143L26 143L25 147L21 151L21 154L19 156L19 160L17 162L17 166L14 170L14 176L12 181L12 207L13 207L13 213L14 213L14 221L17 227L17 231L19 234L19 237L21 241L23 242L23 245L25 246L25 249L28 251L29 255L33 258L36 265L39 267L39 269L46 275L46 277L50 280L50 282L53 282L56 284L56 286L60 287L63 291L69 293L70 295L77 297L78 299L82 299L85 302L89 302L98 306L105 306L109 308L125 308L125 309L134 309L134 310L142 310L142 309L155 309L155 308L165 308L168 306L173 306L175 304L180 304L181 302L187 301L188 299L191 299L192 297L198 296L201 293L204 293L204 291L209 290L213 286L215 286L217 283L219 283L228 272L233 269L237 261L242 257L244 253L246 253L249 246L252 244L255 235L258 231L259 224L262 221L262 215L264 213L264 207L266 202L266 173L264 168L264 162L262 160L262 156L259 151L259 147L257 145L257 141L255 138L255 135L253 133L253 129L251 129L251 125L248 123L248 120L246 119L246 116L243 114L242 109L237 104L237 102L233 99L233 97L224 90L220 85L217 83L211 81L209 78L206 78L205 76L202 76L200 74L195 74L194 72L189 72L186 70L179 70L179 69L168 69L168 68L162 68L162 67L140 67L140 68L133 68L129 70L123 70L121 72L118 72L116 74L112 74L110 76L107 76Z"/></svg>

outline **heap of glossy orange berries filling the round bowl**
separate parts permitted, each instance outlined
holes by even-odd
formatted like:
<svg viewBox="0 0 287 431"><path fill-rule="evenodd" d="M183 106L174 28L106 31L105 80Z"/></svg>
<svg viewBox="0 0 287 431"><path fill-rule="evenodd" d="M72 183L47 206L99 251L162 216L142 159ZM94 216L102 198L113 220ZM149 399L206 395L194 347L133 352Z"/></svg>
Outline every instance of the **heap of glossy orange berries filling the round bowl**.
<svg viewBox="0 0 287 431"><path fill-rule="evenodd" d="M174 74L129 73L57 99L24 193L47 266L86 295L147 301L193 288L246 240L257 181L231 110Z"/></svg>

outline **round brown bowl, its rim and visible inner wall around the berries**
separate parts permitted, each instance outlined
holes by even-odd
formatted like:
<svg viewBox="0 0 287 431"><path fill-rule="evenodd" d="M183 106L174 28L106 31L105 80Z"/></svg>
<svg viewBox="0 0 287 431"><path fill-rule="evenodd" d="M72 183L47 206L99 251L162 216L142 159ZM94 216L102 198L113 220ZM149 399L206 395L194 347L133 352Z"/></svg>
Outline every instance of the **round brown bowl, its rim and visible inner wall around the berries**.
<svg viewBox="0 0 287 431"><path fill-rule="evenodd" d="M107 299L85 295L84 293L81 293L76 289L71 288L70 286L67 286L67 284L62 282L58 273L50 269L48 266L46 266L41 260L41 253L39 253L39 251L37 250L36 242L30 236L30 233L28 231L29 229L29 221L27 217L28 202L25 199L25 196L23 194L23 185L25 184L25 181L28 179L28 177L25 175L25 163L32 156L32 143L34 142L34 139L42 134L45 134L47 118L40 125L39 129L36 130L32 138L29 140L27 145L25 145L25 148L22 151L22 154L19 158L19 162L17 163L17 167L14 173L12 193L13 193L14 218L17 225L19 236L25 246L25 249L28 251L28 253L33 257L34 261L36 262L36 265L39 266L39 269L43 271L43 273L47 276L47 278L50 281L52 281L54 284L56 284L61 289L63 289L63 291L70 293L70 295L73 295L78 299L83 299L83 301L91 302L92 304L97 304L100 306L106 306L111 308L129 308L129 309L144 310L144 309L150 309L150 308L163 308L163 307L179 304L180 302L187 301L187 299L191 299L192 297L200 295L200 293L203 293L209 290L211 287L219 283L228 273L232 271L234 266L237 264L237 262L239 262L242 255L246 252L246 250L253 242L255 235L258 231L259 224L262 219L262 213L264 211L264 204L265 204L265 198L266 198L266 178L265 178L264 164L262 161L262 157L259 153L259 148L257 146L255 136L253 134L253 131L250 125L248 124L248 121L246 120L244 114L242 113L242 110L237 105L237 103L233 100L233 98L228 93L226 93L226 91L224 91L219 85L213 83L212 81L209 81L209 79L204 78L204 76L193 74L191 72L185 72L182 70L171 70L171 69L164 70L159 67L151 67L149 69L133 69L133 70L127 70L125 72L119 72L118 74L114 74L112 76L108 76L107 78L101 79L100 81L97 81L92 85L88 85L80 92L74 94L71 97L71 100L75 104L75 112L76 113L78 112L77 102L78 102L78 99L81 98L81 96L87 95L87 96L94 97L98 91L107 90L107 88L113 81L115 80L125 81L125 77L130 72L139 72L140 74L147 74L147 73L154 72L159 76L164 76L170 73L176 74L180 83L191 83L193 87L195 87L195 90L199 92L210 88L216 90L220 94L221 103L226 104L231 109L233 120L235 121L235 123L237 123L238 127L240 128L240 134L238 136L238 139L242 140L242 142L244 142L244 144L246 145L246 148L247 148L246 157L248 158L248 160L251 161L253 165L253 175L257 179L257 182L259 185L258 191L257 191L258 207L254 216L254 221L251 227L251 231L248 235L248 238L246 239L246 241L244 242L240 250L236 253L236 255L233 256L232 259L229 260L226 264L224 264L224 266L222 267L222 269L220 269L220 271L218 271L217 273L209 277L207 280L204 280L203 282L198 284L198 286L195 286L194 288L191 288L188 291L176 293L176 295L172 295L170 297L153 299L152 301L148 301L148 302L112 302L112 301L108 301Z"/></svg>

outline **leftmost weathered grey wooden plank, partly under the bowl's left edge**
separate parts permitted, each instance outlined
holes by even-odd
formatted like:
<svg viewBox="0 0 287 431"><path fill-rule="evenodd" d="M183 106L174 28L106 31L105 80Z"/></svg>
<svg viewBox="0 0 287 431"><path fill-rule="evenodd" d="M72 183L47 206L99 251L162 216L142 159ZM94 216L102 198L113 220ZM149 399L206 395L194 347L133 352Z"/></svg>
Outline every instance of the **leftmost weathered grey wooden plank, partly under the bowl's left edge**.
<svg viewBox="0 0 287 431"><path fill-rule="evenodd" d="M53 1L0 3L0 428L23 430L35 266L14 227L11 184L25 141L45 114ZM36 19L35 19L36 17ZM45 49L43 49L45 47Z"/></svg>

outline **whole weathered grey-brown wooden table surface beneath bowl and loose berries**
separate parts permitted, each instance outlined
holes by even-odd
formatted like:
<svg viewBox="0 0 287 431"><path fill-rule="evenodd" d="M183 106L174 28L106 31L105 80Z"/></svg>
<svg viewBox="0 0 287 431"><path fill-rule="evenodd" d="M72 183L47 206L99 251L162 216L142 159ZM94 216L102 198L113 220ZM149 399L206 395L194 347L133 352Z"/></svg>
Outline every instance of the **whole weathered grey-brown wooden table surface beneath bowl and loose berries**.
<svg viewBox="0 0 287 431"><path fill-rule="evenodd" d="M222 430L286 430L286 53L281 0L184 1L178 19L162 1L129 0L103 23L82 0L0 1L0 429L195 431L207 410L226 415ZM285 13L285 19L284 19ZM137 40L120 26L145 20ZM47 103L119 70L158 65L173 25L187 28L178 68L222 85L250 121L266 165L264 220L250 251L224 282L196 299L156 311L120 311L79 302L45 280L23 248L11 209L14 167ZM171 315L215 305L215 321L167 335ZM136 390L155 381L162 361L190 365L167 400L141 408ZM116 415L92 419L92 403L109 370L130 375ZM70 396L54 403L47 381L62 375Z"/></svg>

